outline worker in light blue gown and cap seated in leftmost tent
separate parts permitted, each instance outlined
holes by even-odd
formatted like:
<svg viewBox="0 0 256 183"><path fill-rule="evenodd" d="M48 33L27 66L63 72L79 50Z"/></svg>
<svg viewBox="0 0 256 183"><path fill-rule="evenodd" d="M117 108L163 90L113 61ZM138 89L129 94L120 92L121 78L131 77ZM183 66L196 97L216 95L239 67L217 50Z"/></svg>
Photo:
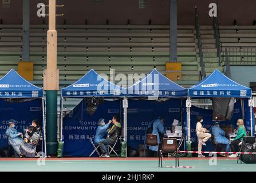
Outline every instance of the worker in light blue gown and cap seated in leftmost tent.
<svg viewBox="0 0 256 183"><path fill-rule="evenodd" d="M11 119L9 121L7 121L9 124L9 128L7 128L5 134L9 139L9 143L10 145L13 147L13 149L15 150L15 152L18 154L19 157L21 156L21 151L19 150L19 148L21 147L21 145L23 144L23 134L19 133L16 129L15 129L15 120ZM20 138L21 137L21 138Z"/></svg>

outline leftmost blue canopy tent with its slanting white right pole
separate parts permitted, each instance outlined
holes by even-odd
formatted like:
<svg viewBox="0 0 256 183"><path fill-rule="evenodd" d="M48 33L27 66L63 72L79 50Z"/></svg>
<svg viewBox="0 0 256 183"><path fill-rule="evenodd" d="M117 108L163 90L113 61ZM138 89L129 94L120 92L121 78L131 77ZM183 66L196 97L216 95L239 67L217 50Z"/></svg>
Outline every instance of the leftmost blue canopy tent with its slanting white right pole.
<svg viewBox="0 0 256 183"><path fill-rule="evenodd" d="M30 112L42 110L42 125L43 125L43 139L44 139L44 152L46 157L46 139L45 139L45 107L44 107L44 91L37 86L22 78L15 70L11 69L5 76L0 79L0 98L11 99L31 99L38 98L42 100L42 109L38 106L27 106ZM2 104L2 105L6 105ZM18 112L15 112L18 116ZM12 116L14 114L11 114ZM26 125L25 122L21 124Z"/></svg>

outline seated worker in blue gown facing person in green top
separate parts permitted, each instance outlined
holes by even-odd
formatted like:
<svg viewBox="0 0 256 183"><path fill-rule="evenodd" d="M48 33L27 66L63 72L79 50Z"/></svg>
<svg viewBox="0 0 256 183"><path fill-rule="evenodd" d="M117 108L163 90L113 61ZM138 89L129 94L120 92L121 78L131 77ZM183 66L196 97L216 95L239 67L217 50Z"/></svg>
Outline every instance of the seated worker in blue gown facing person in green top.
<svg viewBox="0 0 256 183"><path fill-rule="evenodd" d="M219 122L215 122L214 126L211 128L211 134L214 136L214 140L216 144L223 144L225 148L223 149L225 152L230 151L229 139L225 137L225 131L219 127ZM225 154L220 154L221 156L225 156Z"/></svg>

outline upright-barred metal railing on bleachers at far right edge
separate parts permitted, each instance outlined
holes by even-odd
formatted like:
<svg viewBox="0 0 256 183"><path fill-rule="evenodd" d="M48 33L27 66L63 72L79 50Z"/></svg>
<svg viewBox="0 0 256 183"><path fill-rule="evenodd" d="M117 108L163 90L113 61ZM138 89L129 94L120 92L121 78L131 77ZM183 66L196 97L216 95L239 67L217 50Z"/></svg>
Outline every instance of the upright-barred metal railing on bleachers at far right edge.
<svg viewBox="0 0 256 183"><path fill-rule="evenodd" d="M227 64L255 66L256 47L225 47L225 51L222 52L222 61L226 66Z"/></svg>

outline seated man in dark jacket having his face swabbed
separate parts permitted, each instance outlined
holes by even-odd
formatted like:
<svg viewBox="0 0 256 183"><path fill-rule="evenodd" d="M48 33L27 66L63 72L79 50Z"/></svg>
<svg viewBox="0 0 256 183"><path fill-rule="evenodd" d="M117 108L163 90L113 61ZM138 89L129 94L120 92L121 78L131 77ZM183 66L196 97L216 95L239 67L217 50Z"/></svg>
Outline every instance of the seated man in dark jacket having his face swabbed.
<svg viewBox="0 0 256 183"><path fill-rule="evenodd" d="M108 130L109 137L104 140L101 140L99 142L100 150L102 153L101 157L104 157L104 158L110 157L108 154L108 150L107 150L108 145L115 144L115 142L116 142L117 138L119 138L119 136L121 134L121 130L122 130L119 116L114 116L112 119L112 123L113 123L113 126L111 127L111 129Z"/></svg>

